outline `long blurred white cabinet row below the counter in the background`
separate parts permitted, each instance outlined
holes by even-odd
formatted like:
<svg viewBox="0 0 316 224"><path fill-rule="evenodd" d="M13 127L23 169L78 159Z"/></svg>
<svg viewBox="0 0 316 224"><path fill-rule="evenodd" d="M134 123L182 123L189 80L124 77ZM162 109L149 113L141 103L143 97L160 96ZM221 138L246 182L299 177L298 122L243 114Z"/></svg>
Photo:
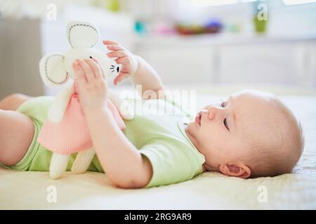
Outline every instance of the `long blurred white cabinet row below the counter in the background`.
<svg viewBox="0 0 316 224"><path fill-rule="evenodd" d="M165 83L316 84L316 38L147 38L135 52Z"/></svg>

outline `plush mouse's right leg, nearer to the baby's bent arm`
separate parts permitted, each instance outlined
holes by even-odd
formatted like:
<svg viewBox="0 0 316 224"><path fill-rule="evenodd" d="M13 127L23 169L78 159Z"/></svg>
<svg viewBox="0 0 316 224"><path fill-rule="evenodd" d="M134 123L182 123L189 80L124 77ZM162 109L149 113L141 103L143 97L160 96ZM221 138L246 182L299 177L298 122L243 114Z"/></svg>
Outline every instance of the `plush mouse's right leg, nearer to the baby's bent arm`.
<svg viewBox="0 0 316 224"><path fill-rule="evenodd" d="M83 174L86 172L95 154L96 151L94 151L93 148L88 148L85 151L79 152L72 164L72 172L74 174Z"/></svg>

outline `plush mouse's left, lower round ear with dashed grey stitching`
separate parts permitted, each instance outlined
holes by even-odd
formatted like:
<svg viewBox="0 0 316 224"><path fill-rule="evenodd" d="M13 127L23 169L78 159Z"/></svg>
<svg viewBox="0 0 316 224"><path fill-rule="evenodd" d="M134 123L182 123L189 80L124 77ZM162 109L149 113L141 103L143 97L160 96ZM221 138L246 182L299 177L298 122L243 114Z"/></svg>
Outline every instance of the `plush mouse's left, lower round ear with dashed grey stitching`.
<svg viewBox="0 0 316 224"><path fill-rule="evenodd" d="M48 86L58 86L67 82L69 76L64 66L64 55L47 54L39 62L39 72Z"/></svg>

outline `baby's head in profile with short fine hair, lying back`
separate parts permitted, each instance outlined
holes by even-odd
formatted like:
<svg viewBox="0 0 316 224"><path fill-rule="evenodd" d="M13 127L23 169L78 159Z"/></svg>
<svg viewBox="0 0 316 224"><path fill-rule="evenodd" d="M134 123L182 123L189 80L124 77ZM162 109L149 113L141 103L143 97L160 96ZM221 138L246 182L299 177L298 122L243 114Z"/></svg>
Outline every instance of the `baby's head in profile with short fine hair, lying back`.
<svg viewBox="0 0 316 224"><path fill-rule="evenodd" d="M204 169L242 178L290 173L304 145L291 111L256 90L206 106L186 132L205 157Z"/></svg>

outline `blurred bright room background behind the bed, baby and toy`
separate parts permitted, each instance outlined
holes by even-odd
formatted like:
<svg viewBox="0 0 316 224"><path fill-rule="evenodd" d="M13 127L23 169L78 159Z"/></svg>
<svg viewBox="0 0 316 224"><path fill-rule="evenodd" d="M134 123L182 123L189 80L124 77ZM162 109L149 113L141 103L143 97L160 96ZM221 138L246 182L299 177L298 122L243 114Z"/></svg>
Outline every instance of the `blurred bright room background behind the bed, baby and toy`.
<svg viewBox="0 0 316 224"><path fill-rule="evenodd" d="M0 98L57 92L38 64L70 48L71 20L95 22L102 39L144 57L166 87L315 94L315 12L313 0L0 0Z"/></svg>

